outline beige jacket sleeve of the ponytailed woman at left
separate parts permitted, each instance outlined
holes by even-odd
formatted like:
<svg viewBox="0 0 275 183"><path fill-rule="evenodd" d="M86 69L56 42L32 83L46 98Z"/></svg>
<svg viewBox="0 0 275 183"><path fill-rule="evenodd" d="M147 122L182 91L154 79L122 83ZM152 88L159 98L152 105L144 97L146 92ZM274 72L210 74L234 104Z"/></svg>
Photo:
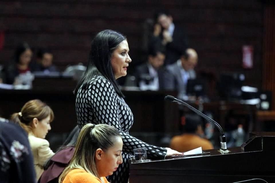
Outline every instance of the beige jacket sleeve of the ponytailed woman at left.
<svg viewBox="0 0 275 183"><path fill-rule="evenodd" d="M54 155L49 146L49 142L43 139L41 145L38 147L38 164L41 166L44 166L44 163Z"/></svg>

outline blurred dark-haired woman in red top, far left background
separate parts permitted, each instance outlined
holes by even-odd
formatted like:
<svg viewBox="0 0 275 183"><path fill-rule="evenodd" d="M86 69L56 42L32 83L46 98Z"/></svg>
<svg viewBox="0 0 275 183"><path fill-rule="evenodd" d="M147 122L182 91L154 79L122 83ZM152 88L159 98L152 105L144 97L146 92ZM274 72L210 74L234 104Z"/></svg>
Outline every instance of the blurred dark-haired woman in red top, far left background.
<svg viewBox="0 0 275 183"><path fill-rule="evenodd" d="M14 61L9 63L4 68L5 83L7 84L22 84L24 81L20 81L19 75L30 74L32 69L30 62L32 60L32 49L28 43L23 42L19 44L14 53ZM32 77L30 78L32 81ZM23 83L24 84L24 83Z"/></svg>

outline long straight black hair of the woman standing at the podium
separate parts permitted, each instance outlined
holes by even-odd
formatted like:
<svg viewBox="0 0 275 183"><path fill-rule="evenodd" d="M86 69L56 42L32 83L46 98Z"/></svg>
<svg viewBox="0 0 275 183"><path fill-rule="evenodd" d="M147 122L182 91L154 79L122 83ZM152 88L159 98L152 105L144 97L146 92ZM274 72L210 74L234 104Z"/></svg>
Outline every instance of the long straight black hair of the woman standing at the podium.
<svg viewBox="0 0 275 183"><path fill-rule="evenodd" d="M124 97L119 89L117 81L111 66L111 55L118 47L119 43L126 40L126 37L119 32L112 30L104 30L95 36L91 43L88 67L82 76L82 79L76 86L74 94L77 94L78 89L82 86L87 88L95 75L103 75L112 83L115 92Z"/></svg>

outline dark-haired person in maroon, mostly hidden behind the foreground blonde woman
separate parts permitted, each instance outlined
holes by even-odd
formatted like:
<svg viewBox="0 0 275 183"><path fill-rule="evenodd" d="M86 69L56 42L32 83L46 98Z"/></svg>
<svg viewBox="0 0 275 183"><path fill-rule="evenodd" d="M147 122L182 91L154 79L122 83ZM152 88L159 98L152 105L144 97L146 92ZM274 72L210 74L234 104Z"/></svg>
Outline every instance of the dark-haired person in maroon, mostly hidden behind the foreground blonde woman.
<svg viewBox="0 0 275 183"><path fill-rule="evenodd" d="M72 159L78 135L79 128L76 126L56 154L45 163L44 172L38 183L58 183L59 176Z"/></svg>

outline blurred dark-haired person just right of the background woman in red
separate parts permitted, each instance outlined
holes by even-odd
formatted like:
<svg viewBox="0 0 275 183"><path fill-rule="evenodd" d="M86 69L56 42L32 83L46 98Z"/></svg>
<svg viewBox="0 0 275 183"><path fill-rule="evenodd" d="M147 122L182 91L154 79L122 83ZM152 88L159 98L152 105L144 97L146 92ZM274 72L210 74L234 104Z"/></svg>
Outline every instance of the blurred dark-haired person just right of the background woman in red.
<svg viewBox="0 0 275 183"><path fill-rule="evenodd" d="M44 73L57 72L58 70L56 66L52 63L53 57L54 56L49 49L38 49L34 71L41 71Z"/></svg>

